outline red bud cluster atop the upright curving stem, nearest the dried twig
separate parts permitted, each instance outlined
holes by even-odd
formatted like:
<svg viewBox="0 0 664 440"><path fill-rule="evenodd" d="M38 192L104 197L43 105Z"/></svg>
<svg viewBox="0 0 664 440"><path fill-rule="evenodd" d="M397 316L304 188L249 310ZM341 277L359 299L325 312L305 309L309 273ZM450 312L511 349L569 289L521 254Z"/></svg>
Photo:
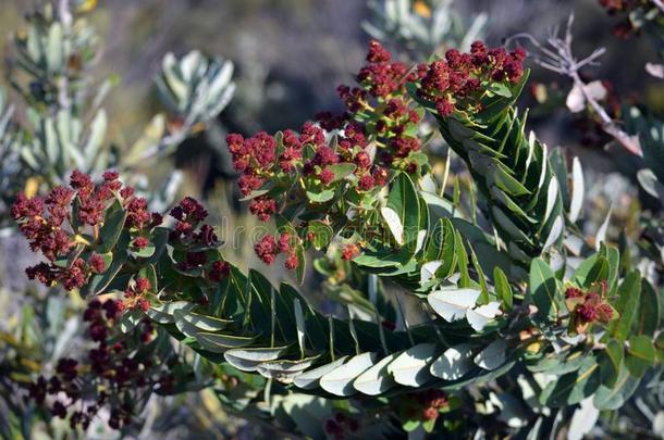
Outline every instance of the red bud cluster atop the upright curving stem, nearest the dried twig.
<svg viewBox="0 0 664 440"><path fill-rule="evenodd" d="M451 49L445 60L420 65L421 88L418 95L435 103L441 116L455 111L481 111L479 98L487 86L495 83L518 83L524 75L526 52L518 48L489 49L482 41L472 43L470 53Z"/></svg>

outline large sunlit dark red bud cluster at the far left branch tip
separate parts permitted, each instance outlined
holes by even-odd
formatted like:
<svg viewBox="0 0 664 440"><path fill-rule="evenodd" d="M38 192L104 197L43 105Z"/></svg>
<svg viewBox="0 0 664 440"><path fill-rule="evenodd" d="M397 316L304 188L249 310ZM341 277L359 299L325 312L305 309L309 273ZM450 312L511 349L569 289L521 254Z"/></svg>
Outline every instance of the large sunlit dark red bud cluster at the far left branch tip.
<svg viewBox="0 0 664 440"><path fill-rule="evenodd" d="M53 188L46 198L19 194L12 216L28 239L30 249L48 260L26 269L30 279L46 286L62 284L67 290L83 287L88 278L103 273L107 262L97 253L102 246L100 230L113 203L127 211L124 227L139 236L161 223L161 216L147 211L147 201L135 197L132 187L118 180L118 173L103 174L103 183L95 185L90 176L73 172L71 187ZM137 247L149 243L135 239Z"/></svg>

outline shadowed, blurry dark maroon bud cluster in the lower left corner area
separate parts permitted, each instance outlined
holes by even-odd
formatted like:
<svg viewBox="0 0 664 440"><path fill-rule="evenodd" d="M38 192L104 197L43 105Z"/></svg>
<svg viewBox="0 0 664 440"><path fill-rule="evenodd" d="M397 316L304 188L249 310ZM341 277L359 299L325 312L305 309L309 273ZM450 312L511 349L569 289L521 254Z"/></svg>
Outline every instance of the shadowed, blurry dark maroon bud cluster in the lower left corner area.
<svg viewBox="0 0 664 440"><path fill-rule="evenodd" d="M96 347L88 351L86 360L59 360L50 378L39 376L28 387L30 399L47 405L53 416L69 419L72 429L87 429L104 406L110 410L109 427L120 429L132 422L133 408L127 402L135 401L142 390L152 387L161 393L172 390L169 370L173 365L145 353L139 359L135 350L136 343L145 344L152 339L151 324L144 320L132 334L122 335L118 320L123 310L121 301L90 301L83 319Z"/></svg>

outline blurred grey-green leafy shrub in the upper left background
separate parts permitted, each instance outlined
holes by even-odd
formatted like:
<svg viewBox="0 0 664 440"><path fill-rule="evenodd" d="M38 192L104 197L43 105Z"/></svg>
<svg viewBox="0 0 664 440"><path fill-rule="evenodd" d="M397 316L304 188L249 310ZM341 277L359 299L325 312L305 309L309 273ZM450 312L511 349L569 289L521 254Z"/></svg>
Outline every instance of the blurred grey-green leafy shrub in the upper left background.
<svg viewBox="0 0 664 440"><path fill-rule="evenodd" d="M25 185L38 191L40 185L64 183L72 169L95 175L108 168L131 171L132 181L147 189L145 185L140 188L145 179L137 172L173 152L194 129L202 128L223 110L234 90L233 65L197 51L180 60L167 54L157 84L172 112L171 123L167 125L164 115L155 116L144 137L128 151L120 151L107 141L107 114L101 108L116 79L106 79L98 87L90 80L98 37L85 16L72 11L69 1L47 3L28 15L27 29L15 37L16 59L9 78L29 106L28 125L11 126L16 131L13 141L3 137L5 143L11 142L3 151L17 154L22 164L19 168L7 163L3 172L15 169L11 177L14 193ZM179 179L176 173L172 179ZM163 188L172 199L176 186L165 183ZM0 214L7 217L7 213Z"/></svg>

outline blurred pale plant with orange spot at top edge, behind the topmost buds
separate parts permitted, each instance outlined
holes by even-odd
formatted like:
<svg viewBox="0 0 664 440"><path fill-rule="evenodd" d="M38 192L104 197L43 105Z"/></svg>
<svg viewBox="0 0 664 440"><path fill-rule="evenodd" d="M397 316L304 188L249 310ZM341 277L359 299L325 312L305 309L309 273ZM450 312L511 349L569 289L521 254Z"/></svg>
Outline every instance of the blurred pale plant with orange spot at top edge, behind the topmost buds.
<svg viewBox="0 0 664 440"><path fill-rule="evenodd" d="M487 14L465 23L454 10L454 0L369 0L371 20L362 23L373 38L395 43L416 61L450 48L470 49L480 39Z"/></svg>

